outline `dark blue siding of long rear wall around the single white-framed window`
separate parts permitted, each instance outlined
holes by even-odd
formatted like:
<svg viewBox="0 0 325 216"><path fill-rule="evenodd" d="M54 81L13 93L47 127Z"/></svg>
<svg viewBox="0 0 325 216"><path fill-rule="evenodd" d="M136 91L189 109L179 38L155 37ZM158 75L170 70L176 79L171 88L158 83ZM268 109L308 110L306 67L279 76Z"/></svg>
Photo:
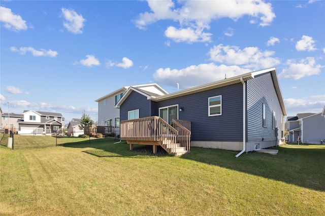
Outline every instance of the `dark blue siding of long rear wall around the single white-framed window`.
<svg viewBox="0 0 325 216"><path fill-rule="evenodd" d="M205 92L157 102L160 107L178 105L179 119L191 121L192 141L242 141L243 85L228 85ZM208 98L222 96L222 115L208 116Z"/></svg>

